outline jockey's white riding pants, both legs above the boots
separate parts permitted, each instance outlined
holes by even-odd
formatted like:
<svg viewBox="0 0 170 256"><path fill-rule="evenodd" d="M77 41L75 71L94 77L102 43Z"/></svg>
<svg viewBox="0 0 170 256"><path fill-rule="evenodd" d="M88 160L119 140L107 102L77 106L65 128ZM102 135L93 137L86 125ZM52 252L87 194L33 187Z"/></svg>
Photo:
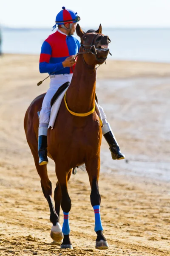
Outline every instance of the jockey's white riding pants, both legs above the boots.
<svg viewBox="0 0 170 256"><path fill-rule="evenodd" d="M51 112L51 99L62 84L66 82L71 82L72 76L73 74L62 74L62 75L50 76L50 87L47 90L47 93L45 94L45 97L43 99L42 108L39 115L40 126L45 126L46 124L46 126L48 127L50 112ZM103 121L102 133L105 134L106 132L111 131L111 128L106 120L106 115L105 115L105 112L103 111L103 108L100 105L98 106L99 106L99 110L100 110L102 121Z"/></svg>

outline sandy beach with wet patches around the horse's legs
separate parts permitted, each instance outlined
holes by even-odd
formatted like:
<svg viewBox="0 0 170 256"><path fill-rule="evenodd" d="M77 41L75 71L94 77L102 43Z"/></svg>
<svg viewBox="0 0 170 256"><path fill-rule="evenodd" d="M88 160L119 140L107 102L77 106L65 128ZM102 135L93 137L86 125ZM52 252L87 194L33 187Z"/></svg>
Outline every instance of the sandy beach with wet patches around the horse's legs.
<svg viewBox="0 0 170 256"><path fill-rule="evenodd" d="M88 175L78 170L68 189L73 250L50 237L48 203L26 142L23 119L37 87L38 55L0 58L0 255L170 255L170 64L108 60L98 69L96 93L126 155L113 161L102 140L99 191L109 249L95 249ZM50 160L48 174L57 177ZM62 224L62 215L60 217Z"/></svg>

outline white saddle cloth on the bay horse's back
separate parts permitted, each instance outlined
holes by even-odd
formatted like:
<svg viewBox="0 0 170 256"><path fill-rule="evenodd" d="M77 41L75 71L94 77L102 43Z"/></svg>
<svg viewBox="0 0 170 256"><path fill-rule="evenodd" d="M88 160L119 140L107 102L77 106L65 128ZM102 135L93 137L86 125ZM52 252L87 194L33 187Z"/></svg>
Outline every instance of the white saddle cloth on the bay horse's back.
<svg viewBox="0 0 170 256"><path fill-rule="evenodd" d="M49 121L48 128L51 128L51 129L54 128L55 120L57 118L57 114L58 114L62 99L64 98L64 95L65 95L66 91L68 90L68 87L59 94L59 96L55 99L55 101L51 107L51 114L50 114L50 121ZM52 102L52 100L51 100L51 102ZM99 116L100 124L102 126L102 116L101 116L101 113L100 113L100 110L99 110L96 100L95 100L95 111L96 111L97 115ZM80 118L82 118L82 117L80 117Z"/></svg>

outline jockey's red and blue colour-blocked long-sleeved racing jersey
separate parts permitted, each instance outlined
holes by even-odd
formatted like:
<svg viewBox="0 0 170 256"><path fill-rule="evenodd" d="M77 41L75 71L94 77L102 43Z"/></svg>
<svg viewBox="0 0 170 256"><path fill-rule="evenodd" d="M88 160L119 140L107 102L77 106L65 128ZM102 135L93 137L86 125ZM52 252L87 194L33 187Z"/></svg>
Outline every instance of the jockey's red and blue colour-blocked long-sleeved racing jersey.
<svg viewBox="0 0 170 256"><path fill-rule="evenodd" d="M63 67L62 61L79 52L80 44L77 38L67 36L59 30L50 35L42 44L40 54L40 73L70 74L75 65Z"/></svg>

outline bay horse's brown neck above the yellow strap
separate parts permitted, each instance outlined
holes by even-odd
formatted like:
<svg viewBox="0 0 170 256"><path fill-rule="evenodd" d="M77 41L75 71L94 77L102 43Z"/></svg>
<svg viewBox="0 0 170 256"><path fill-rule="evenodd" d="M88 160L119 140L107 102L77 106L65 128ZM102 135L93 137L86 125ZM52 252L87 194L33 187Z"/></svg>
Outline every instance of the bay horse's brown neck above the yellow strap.
<svg viewBox="0 0 170 256"><path fill-rule="evenodd" d="M66 101L71 111L87 113L94 108L96 91L96 69L90 69L79 55Z"/></svg>

